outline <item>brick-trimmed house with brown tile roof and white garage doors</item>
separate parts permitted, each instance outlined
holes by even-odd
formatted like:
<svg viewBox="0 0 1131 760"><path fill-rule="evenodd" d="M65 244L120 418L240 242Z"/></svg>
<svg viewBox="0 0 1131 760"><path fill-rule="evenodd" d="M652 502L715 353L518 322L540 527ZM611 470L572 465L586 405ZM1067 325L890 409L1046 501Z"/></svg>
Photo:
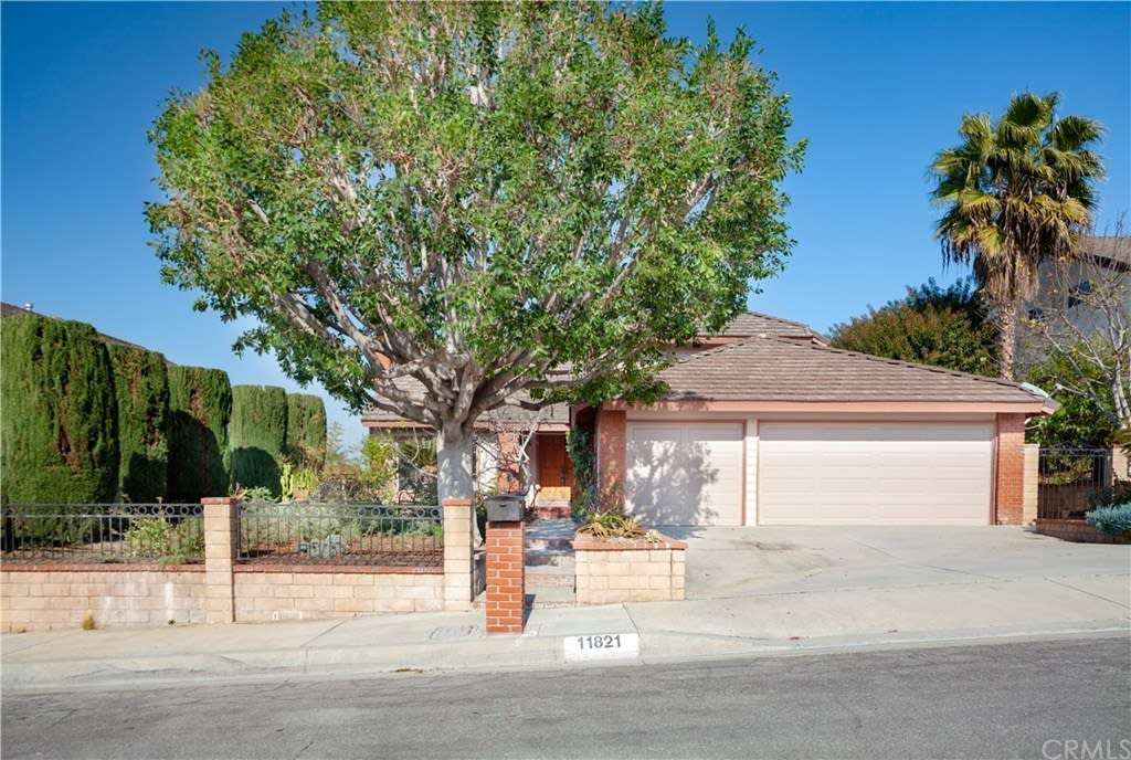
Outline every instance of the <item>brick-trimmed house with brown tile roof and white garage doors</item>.
<svg viewBox="0 0 1131 760"><path fill-rule="evenodd" d="M602 506L651 525L1021 522L1025 421L1053 411L1046 397L829 348L766 314L698 343L661 373L656 404L555 408L535 435L533 500L568 499L572 424L594 434Z"/></svg>

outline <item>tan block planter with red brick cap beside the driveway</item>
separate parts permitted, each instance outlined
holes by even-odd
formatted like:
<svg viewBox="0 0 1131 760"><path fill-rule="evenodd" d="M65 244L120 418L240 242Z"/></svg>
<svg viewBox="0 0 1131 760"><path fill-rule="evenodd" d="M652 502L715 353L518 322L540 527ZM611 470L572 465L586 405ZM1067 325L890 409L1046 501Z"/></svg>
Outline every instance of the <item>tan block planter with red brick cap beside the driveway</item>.
<svg viewBox="0 0 1131 760"><path fill-rule="evenodd" d="M578 604L671 602L683 598L688 545L573 537Z"/></svg>

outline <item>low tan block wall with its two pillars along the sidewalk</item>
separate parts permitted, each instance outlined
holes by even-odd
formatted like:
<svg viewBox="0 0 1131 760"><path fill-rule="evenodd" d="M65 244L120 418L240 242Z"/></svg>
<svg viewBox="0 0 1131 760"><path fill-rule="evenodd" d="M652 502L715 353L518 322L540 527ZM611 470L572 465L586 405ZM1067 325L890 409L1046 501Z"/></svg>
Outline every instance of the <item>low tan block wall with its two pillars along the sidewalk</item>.
<svg viewBox="0 0 1131 760"><path fill-rule="evenodd" d="M444 567L262 565L236 562L236 506L204 500L205 564L16 564L0 571L7 631L345 618L467 610L476 556L469 501L444 508Z"/></svg>

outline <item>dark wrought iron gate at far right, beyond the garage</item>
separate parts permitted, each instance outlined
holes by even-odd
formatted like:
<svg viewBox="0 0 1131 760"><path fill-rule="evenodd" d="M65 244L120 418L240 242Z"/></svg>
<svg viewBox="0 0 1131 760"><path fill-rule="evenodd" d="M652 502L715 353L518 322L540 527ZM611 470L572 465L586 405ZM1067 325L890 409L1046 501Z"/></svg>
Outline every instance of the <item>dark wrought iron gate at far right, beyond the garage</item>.
<svg viewBox="0 0 1131 760"><path fill-rule="evenodd" d="M1110 490L1111 449L1041 448L1037 517L1082 517L1089 499Z"/></svg>

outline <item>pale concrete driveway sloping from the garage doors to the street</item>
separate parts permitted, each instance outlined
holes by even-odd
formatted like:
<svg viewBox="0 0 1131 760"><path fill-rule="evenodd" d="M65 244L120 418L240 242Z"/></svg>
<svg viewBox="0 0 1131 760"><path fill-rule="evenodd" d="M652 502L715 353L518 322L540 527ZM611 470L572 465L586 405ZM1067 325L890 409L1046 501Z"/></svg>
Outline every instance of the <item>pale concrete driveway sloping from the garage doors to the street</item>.
<svg viewBox="0 0 1131 760"><path fill-rule="evenodd" d="M630 606L676 651L1131 631L1131 546L1016 527L664 533L689 544L687 601Z"/></svg>

